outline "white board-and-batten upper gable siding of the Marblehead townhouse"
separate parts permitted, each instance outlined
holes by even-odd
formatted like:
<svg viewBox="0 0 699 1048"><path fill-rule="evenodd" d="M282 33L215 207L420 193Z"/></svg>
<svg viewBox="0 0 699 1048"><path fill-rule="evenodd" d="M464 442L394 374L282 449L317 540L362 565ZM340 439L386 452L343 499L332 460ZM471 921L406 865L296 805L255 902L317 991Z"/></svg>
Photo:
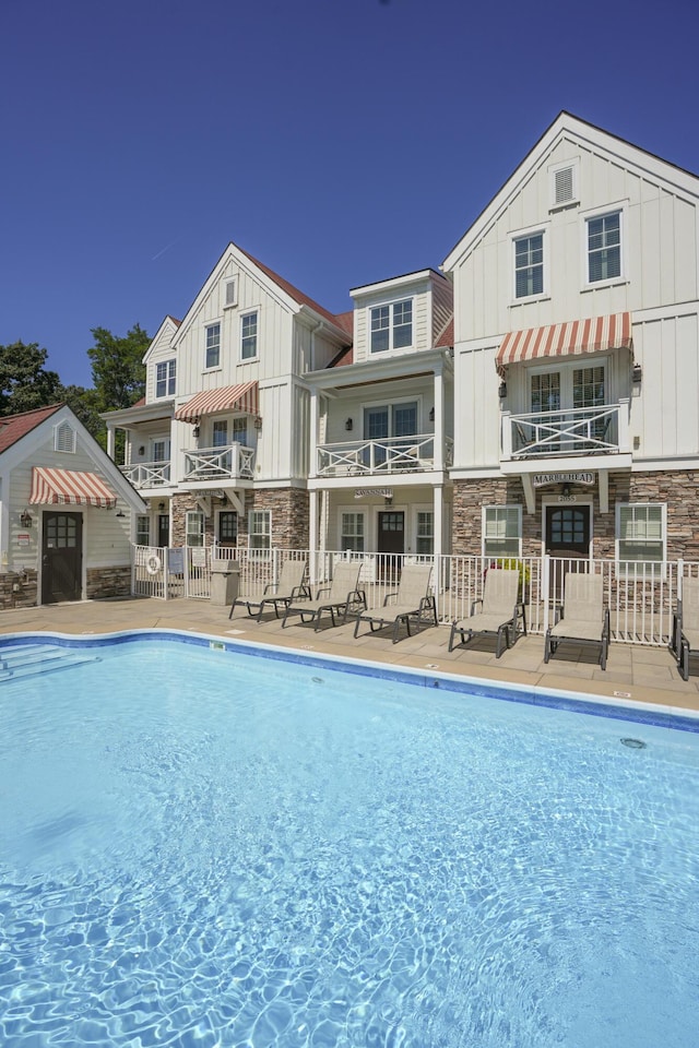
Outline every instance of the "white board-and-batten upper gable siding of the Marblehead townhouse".
<svg viewBox="0 0 699 1048"><path fill-rule="evenodd" d="M550 207L549 168L578 165L579 203ZM621 278L590 287L585 222L590 212L621 210ZM541 229L546 241L545 294L513 299L513 236ZM566 140L549 153L454 272L458 338L484 338L583 317L652 309L699 297L696 201L668 182L642 175L618 157Z"/></svg>

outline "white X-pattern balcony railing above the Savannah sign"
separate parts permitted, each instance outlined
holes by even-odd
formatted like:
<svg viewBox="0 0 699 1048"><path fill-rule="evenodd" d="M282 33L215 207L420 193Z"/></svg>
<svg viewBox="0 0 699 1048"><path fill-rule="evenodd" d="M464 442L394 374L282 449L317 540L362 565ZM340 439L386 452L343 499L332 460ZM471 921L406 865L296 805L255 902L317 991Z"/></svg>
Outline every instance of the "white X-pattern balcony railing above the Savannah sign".
<svg viewBox="0 0 699 1048"><path fill-rule="evenodd" d="M453 460L453 441L445 440L443 466ZM318 445L318 476L347 477L435 468L435 434L387 437Z"/></svg>

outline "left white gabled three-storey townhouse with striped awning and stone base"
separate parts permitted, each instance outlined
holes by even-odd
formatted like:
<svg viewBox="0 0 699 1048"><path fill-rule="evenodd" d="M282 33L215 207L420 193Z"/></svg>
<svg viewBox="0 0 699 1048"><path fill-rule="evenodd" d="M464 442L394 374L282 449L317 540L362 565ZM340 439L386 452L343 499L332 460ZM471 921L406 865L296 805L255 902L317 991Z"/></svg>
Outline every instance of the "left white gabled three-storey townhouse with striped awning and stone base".
<svg viewBox="0 0 699 1048"><path fill-rule="evenodd" d="M306 376L351 341L345 318L229 243L185 318L163 321L143 401L104 416L147 507L134 541L307 548Z"/></svg>

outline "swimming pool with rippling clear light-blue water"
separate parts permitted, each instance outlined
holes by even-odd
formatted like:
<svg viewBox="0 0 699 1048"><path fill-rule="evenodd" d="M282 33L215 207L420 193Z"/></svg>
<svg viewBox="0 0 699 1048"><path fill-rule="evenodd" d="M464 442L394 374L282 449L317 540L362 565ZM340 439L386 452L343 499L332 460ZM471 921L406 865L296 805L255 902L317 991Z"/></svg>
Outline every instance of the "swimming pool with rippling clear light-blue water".
<svg viewBox="0 0 699 1048"><path fill-rule="evenodd" d="M696 1044L696 722L116 641L0 684L3 1048Z"/></svg>

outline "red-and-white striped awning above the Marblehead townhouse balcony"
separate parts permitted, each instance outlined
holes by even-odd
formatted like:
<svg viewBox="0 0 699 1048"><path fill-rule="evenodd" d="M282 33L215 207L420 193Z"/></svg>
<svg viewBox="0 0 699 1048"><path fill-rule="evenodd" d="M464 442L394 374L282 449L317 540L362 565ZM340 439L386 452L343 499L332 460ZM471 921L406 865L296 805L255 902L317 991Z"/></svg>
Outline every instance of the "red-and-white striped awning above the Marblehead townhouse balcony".
<svg viewBox="0 0 699 1048"><path fill-rule="evenodd" d="M547 327L511 331L505 336L495 358L498 374L505 377L510 364L540 357L569 357L601 349L631 349L631 314L611 313L589 320L571 320Z"/></svg>

